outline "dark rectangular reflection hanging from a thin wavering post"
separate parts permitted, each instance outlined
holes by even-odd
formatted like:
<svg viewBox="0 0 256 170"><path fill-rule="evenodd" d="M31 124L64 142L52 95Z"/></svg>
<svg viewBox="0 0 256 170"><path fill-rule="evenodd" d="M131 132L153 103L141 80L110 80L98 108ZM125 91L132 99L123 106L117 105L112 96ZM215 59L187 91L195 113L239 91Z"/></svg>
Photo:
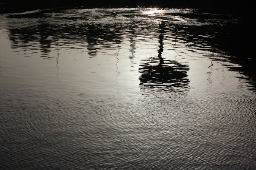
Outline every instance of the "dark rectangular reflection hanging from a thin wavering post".
<svg viewBox="0 0 256 170"><path fill-rule="evenodd" d="M165 22L161 22L159 25L160 35L158 42L160 45L158 56L140 65L140 86L141 88L186 91L189 85L187 75L189 65L183 65L174 60L164 61L162 57L165 24Z"/></svg>

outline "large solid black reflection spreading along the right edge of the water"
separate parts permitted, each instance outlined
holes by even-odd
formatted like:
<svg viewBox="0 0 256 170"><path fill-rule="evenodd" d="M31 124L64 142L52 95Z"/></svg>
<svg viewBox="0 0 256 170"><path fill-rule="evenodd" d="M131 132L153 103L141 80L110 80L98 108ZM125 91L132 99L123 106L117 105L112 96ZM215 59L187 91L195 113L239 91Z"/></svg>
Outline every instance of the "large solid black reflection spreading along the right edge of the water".
<svg viewBox="0 0 256 170"><path fill-rule="evenodd" d="M221 14L179 14L182 17L196 19L202 25L176 24L168 28L177 41L186 44L188 50L200 49L213 53L224 54L228 58L212 58L220 62L239 64L239 67L229 67L231 71L238 71L244 76L240 77L256 88L256 57L253 54L251 44L254 40L250 38L253 31L244 29L248 23L241 18L234 18L232 15ZM205 23L205 24L204 24ZM173 31L175 30L175 31ZM175 34L172 34L175 32Z"/></svg>

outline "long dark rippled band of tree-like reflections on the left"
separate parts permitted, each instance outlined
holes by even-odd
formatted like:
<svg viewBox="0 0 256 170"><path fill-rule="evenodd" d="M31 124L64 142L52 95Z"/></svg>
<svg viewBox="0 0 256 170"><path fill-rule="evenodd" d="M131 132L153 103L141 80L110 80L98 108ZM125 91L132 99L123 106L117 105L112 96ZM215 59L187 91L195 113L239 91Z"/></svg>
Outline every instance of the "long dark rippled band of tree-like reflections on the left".
<svg viewBox="0 0 256 170"><path fill-rule="evenodd" d="M89 55L96 56L99 50L116 46L121 43L120 26L108 24L82 24L76 26L52 26L40 23L32 28L10 28L10 42L12 48L22 48L24 51L40 50L41 57L49 56L51 46L57 44L64 48L87 48ZM38 45L38 42L40 45Z"/></svg>

